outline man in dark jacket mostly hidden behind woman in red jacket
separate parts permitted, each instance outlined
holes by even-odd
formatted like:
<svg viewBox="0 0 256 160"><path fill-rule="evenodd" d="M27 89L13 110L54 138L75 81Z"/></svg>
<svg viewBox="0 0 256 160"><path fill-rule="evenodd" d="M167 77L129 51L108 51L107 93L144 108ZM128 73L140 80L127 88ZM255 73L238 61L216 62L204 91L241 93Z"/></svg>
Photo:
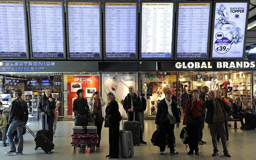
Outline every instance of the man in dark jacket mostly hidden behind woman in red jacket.
<svg viewBox="0 0 256 160"><path fill-rule="evenodd" d="M202 89L199 93L199 97L203 100L203 102L206 101L205 95L208 93L209 90L210 89L207 86L202 87ZM198 142L198 144L201 144L201 145L206 143L205 141L202 140L202 138L203 138L203 128L205 127L205 115L206 115L206 109L205 109L205 107L203 107L203 110L201 111L201 116L203 117L203 121L199 123L199 142Z"/></svg>

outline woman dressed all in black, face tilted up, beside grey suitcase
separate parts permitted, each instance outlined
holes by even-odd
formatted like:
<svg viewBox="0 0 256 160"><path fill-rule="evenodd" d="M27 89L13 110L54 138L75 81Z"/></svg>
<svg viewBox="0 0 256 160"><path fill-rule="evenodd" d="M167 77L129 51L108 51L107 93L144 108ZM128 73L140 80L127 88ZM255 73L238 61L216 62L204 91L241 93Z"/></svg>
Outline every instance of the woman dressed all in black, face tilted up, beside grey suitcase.
<svg viewBox="0 0 256 160"><path fill-rule="evenodd" d="M120 125L120 112L117 101L115 101L115 95L112 92L107 94L109 103L106 107L106 115L109 117L109 155L106 157L118 158L119 156L119 125Z"/></svg>

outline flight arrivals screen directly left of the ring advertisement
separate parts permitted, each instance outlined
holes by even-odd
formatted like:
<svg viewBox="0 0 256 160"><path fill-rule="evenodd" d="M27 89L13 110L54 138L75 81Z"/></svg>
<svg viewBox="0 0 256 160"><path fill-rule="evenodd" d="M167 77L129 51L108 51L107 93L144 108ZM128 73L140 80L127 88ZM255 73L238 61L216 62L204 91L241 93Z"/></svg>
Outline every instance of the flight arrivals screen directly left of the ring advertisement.
<svg viewBox="0 0 256 160"><path fill-rule="evenodd" d="M177 58L206 58L211 3L179 3Z"/></svg>

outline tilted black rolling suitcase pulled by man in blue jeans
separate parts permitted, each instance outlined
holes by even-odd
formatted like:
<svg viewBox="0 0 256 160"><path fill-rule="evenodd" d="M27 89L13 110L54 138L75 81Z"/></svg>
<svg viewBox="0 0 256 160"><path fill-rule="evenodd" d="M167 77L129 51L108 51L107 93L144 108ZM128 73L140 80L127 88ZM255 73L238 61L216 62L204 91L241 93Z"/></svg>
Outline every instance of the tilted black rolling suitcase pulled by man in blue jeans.
<svg viewBox="0 0 256 160"><path fill-rule="evenodd" d="M38 136L36 136L27 125L25 125L25 127L35 138L37 146L40 146L46 154L50 153L51 150L54 149L53 142L45 134L39 134Z"/></svg>

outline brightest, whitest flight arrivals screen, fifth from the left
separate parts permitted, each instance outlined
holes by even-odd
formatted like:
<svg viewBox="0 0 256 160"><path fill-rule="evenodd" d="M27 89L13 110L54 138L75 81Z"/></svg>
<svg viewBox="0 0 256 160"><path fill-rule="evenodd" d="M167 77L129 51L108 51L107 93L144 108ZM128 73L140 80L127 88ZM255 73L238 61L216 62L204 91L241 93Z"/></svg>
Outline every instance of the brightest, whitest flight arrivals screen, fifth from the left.
<svg viewBox="0 0 256 160"><path fill-rule="evenodd" d="M141 57L172 57L173 3L142 3Z"/></svg>

